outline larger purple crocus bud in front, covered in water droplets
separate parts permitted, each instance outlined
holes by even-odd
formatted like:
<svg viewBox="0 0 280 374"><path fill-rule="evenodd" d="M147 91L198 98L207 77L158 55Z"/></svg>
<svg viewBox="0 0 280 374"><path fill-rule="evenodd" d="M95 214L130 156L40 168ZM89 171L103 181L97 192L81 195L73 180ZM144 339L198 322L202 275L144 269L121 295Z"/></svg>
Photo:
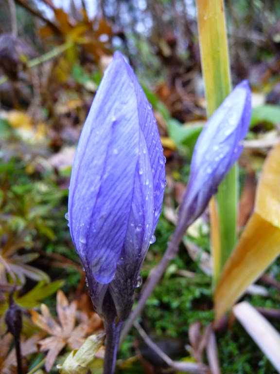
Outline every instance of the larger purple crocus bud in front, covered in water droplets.
<svg viewBox="0 0 280 374"><path fill-rule="evenodd" d="M130 313L142 262L155 240L164 162L152 107L116 52L81 133L69 188L71 237L104 319L115 313L123 321Z"/></svg>

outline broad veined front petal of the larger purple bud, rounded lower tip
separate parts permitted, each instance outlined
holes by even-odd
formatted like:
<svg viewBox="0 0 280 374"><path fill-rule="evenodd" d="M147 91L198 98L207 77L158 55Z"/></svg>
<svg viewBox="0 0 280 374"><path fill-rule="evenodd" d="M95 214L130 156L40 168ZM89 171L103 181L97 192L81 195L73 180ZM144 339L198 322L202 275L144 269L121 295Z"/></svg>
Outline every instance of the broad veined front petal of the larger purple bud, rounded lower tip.
<svg viewBox="0 0 280 374"><path fill-rule="evenodd" d="M137 103L123 63L116 59L105 72L80 137L70 181L72 240L94 278L103 283L115 275L139 153Z"/></svg>

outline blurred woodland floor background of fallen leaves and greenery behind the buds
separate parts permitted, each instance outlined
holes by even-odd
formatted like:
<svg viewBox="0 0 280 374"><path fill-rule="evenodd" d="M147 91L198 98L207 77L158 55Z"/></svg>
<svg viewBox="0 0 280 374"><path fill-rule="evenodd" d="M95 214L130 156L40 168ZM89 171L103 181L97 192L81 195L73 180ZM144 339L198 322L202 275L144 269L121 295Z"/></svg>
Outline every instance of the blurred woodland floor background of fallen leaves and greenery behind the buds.
<svg viewBox="0 0 280 374"><path fill-rule="evenodd" d="M247 78L255 106L240 160L242 230L253 209L262 162L280 139L280 1L227 0L225 6L233 85ZM167 158L164 209L157 242L143 266L145 279L173 232L192 150L206 120L194 1L0 2L1 373L17 373L13 336L17 340L19 335L24 373L58 372L50 363L63 362L75 345L69 336L58 343L61 314L56 330L42 323L53 323L61 306L69 311L64 318L71 318L74 336L75 326L86 325L84 335L77 336L80 343L102 331L64 216L75 146L116 49L127 56L153 105ZM209 248L206 212L189 229L180 255L139 320L172 358L207 362L205 347L202 352L198 347L201 335L194 338L192 331L203 334L213 320ZM244 297L264 314L273 311L270 318L278 330L279 266L278 260ZM58 290L69 302L59 293L55 298ZM42 302L39 313L45 319L34 314ZM5 315L15 305L22 329L12 332ZM54 358L39 351L52 348L43 343L45 337L61 344ZM232 318L217 327L216 338L222 373L276 373ZM124 341L120 358L120 373L166 372L137 330ZM100 373L96 365L92 373Z"/></svg>

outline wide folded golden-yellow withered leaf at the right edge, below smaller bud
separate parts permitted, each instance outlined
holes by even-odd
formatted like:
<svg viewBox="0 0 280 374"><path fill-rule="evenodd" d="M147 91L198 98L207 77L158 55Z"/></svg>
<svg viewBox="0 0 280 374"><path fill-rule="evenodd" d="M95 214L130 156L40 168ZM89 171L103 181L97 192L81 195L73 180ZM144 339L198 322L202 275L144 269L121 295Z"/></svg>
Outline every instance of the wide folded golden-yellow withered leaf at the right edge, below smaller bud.
<svg viewBox="0 0 280 374"><path fill-rule="evenodd" d="M280 254L280 144L268 155L254 212L234 248L214 293L215 318L223 316Z"/></svg>

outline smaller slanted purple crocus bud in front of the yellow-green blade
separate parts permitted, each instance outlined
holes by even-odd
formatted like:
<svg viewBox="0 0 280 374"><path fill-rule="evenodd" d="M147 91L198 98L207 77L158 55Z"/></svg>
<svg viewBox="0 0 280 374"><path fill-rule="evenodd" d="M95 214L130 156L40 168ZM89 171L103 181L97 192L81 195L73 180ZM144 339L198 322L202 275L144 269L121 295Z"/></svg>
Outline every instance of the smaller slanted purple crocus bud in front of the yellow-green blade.
<svg viewBox="0 0 280 374"><path fill-rule="evenodd" d="M195 144L189 183L179 209L177 230L186 230L204 211L228 170L239 158L251 118L246 80L227 96L207 121Z"/></svg>

